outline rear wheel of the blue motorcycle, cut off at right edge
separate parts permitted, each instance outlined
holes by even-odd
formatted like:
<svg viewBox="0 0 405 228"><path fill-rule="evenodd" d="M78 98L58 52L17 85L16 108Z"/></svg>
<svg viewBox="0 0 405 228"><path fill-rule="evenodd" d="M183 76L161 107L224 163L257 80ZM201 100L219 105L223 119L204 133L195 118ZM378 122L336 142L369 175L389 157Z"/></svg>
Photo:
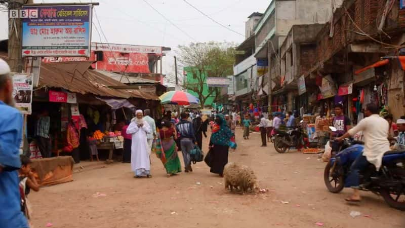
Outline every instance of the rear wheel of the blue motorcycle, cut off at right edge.
<svg viewBox="0 0 405 228"><path fill-rule="evenodd" d="M405 177L405 170L402 168L390 169L392 174L392 179L396 181L403 181ZM384 198L385 202L398 210L405 211L405 185L401 184L400 187L389 189L384 188L380 190L381 196Z"/></svg>

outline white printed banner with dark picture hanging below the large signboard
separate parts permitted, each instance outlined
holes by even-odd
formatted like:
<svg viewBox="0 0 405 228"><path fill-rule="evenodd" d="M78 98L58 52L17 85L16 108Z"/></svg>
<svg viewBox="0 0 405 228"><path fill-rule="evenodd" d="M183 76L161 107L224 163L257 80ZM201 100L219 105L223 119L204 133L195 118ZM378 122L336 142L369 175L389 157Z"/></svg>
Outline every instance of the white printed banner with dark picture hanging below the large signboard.
<svg viewBox="0 0 405 228"><path fill-rule="evenodd" d="M12 73L12 76L15 106L21 113L31 115L33 75L28 73Z"/></svg>

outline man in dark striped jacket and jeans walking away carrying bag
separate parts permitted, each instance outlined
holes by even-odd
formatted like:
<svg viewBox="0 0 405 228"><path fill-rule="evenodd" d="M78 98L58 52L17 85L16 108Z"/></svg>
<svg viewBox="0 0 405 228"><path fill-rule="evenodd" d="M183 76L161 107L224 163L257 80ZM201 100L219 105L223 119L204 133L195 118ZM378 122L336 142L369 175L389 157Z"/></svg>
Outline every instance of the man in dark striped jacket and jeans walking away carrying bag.
<svg viewBox="0 0 405 228"><path fill-rule="evenodd" d="M193 124L189 122L188 114L182 112L180 114L181 121L176 125L176 130L180 134L180 146L183 154L185 172L192 172L190 161L190 150L193 149L193 144L196 143Z"/></svg>

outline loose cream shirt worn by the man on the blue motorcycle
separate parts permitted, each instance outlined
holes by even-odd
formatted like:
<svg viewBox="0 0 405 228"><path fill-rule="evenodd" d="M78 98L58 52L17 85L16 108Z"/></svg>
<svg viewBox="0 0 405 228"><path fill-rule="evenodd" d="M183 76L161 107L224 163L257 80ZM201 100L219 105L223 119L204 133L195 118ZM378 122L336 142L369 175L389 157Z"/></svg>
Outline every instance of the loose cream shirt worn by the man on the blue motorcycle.
<svg viewBox="0 0 405 228"><path fill-rule="evenodd" d="M374 164L377 170L380 169L384 153L389 150L388 142L388 122L378 116L371 115L362 119L354 128L348 132L354 136L357 132L362 131L365 141L363 156L367 161Z"/></svg>

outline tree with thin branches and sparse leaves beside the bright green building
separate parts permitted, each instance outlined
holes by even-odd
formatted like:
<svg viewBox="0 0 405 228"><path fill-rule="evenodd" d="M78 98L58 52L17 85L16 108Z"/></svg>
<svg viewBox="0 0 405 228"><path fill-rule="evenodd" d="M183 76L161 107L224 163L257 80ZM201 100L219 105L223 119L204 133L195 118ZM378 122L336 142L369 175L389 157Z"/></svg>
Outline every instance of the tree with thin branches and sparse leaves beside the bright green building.
<svg viewBox="0 0 405 228"><path fill-rule="evenodd" d="M213 93L215 93L214 101L221 99L220 88L216 87L210 87L208 95L204 96L204 82L207 77L224 78L233 74L235 47L234 43L228 42L191 43L179 46L179 61L184 66L190 66L197 75L196 84L184 82L183 87L198 94L201 107L204 107L207 97Z"/></svg>

